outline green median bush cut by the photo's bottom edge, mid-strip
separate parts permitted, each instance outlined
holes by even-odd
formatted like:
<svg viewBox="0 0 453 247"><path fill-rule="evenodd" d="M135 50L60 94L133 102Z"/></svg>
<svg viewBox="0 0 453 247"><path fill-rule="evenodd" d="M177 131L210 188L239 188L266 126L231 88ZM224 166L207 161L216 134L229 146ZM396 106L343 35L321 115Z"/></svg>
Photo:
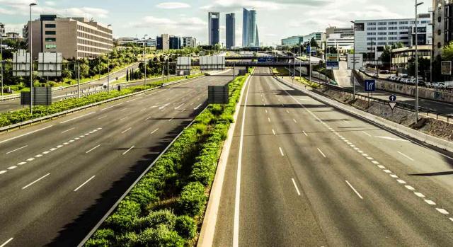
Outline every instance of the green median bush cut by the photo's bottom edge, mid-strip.
<svg viewBox="0 0 453 247"><path fill-rule="evenodd" d="M156 229L146 229L138 236L139 246L184 246L182 239L176 231L168 229L167 226L161 224Z"/></svg>

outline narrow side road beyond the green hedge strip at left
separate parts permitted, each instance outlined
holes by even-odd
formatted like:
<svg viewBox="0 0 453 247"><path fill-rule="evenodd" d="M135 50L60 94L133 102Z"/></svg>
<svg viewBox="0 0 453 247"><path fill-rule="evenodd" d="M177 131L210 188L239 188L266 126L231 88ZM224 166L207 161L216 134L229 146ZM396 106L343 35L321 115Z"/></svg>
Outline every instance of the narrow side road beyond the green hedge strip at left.
<svg viewBox="0 0 453 247"><path fill-rule="evenodd" d="M110 83L113 83L116 78L121 78L126 75L127 69L137 69L139 66L138 63L131 64L129 67L125 67L124 69L120 69L110 74ZM157 79L156 79L157 80ZM91 88L91 90L95 90L95 88L102 87L104 83L107 83L107 77L103 77L101 79L96 79L94 81L90 81L85 84L80 85L80 90L87 91ZM99 88L98 88L99 89ZM52 92L52 99L58 101L64 98L67 95L77 93L77 86L71 86L69 88L64 88L62 90ZM21 105L20 99L14 100L3 100L0 101L0 113L6 113L12 110L18 110L26 106Z"/></svg>

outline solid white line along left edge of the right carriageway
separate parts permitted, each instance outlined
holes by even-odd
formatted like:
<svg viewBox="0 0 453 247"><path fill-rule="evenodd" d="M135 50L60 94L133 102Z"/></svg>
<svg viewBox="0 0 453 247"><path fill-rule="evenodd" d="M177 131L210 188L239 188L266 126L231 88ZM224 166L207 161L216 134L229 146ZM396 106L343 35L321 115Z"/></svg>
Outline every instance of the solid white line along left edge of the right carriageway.
<svg viewBox="0 0 453 247"><path fill-rule="evenodd" d="M248 91L250 90L250 85L251 84L248 84L247 93L246 93L246 101L243 104L241 137L239 138L239 157L238 157L238 168L237 168L237 174L236 174L236 195L234 198L233 247L239 246L239 206L240 206L239 199L241 197L243 129L244 129L244 125L246 125L246 110L247 110Z"/></svg>

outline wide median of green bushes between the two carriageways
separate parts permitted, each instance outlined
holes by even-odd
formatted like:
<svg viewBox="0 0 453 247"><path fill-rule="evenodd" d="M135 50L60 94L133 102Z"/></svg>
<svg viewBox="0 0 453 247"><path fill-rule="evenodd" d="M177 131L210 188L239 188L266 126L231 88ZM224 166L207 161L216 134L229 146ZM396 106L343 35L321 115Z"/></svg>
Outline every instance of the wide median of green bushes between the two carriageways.
<svg viewBox="0 0 453 247"><path fill-rule="evenodd" d="M85 246L195 246L247 77L229 83L229 104L210 105L195 117Z"/></svg>

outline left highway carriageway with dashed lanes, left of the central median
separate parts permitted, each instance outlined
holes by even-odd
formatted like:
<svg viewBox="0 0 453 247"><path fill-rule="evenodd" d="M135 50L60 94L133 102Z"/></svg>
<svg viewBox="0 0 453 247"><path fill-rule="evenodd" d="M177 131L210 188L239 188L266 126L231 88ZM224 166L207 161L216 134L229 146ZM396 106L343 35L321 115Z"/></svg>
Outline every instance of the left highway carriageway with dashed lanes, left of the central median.
<svg viewBox="0 0 453 247"><path fill-rule="evenodd" d="M0 246L76 246L205 108L206 76L0 135Z"/></svg>

